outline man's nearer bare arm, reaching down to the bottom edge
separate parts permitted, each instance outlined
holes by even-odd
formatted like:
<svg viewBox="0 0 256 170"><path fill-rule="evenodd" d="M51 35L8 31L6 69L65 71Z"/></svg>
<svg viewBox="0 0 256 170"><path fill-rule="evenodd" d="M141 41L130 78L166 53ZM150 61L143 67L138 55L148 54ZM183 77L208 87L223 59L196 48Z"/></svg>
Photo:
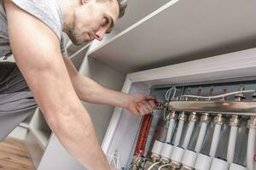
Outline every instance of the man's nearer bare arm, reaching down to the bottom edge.
<svg viewBox="0 0 256 170"><path fill-rule="evenodd" d="M12 52L49 127L84 167L110 169L90 116L73 89L54 32L11 1L4 3Z"/></svg>

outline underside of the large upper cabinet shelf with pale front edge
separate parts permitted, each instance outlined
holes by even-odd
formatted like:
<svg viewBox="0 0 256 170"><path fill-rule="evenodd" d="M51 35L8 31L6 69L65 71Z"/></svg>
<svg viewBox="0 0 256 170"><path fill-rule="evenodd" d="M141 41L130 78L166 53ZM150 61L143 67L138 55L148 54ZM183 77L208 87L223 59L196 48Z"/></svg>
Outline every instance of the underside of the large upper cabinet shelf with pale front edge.
<svg viewBox="0 0 256 170"><path fill-rule="evenodd" d="M238 0L170 1L89 56L130 73L253 48L255 5Z"/></svg>

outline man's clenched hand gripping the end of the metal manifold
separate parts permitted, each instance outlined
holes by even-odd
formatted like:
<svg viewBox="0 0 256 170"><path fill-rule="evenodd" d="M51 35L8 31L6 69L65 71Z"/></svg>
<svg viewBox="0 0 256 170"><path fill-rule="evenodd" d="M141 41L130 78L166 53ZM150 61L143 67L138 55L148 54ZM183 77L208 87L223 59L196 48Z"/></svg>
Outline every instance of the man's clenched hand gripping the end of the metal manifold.
<svg viewBox="0 0 256 170"><path fill-rule="evenodd" d="M154 96L143 94L127 94L125 109L133 115L144 116L153 113L157 100Z"/></svg>

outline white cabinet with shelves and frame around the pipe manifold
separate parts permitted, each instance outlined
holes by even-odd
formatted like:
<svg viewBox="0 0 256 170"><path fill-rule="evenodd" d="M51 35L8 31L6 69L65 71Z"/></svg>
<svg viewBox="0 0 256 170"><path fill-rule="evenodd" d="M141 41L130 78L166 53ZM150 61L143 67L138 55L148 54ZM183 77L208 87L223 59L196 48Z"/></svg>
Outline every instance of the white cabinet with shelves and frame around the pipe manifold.
<svg viewBox="0 0 256 170"><path fill-rule="evenodd" d="M67 53L80 74L125 93L149 94L154 85L254 77L255 6L255 1L240 0L131 0L112 34L80 47L69 42ZM232 53L236 51L240 52ZM120 163L127 167L140 119L120 108L87 103L84 107L102 149L106 154L122 150ZM52 135L38 169L84 167Z"/></svg>

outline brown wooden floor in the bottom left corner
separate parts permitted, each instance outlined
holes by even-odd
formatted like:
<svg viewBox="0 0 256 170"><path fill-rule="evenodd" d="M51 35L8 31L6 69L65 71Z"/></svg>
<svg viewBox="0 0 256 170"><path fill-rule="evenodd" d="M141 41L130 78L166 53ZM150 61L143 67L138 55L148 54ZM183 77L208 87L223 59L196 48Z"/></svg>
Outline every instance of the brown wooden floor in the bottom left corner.
<svg viewBox="0 0 256 170"><path fill-rule="evenodd" d="M25 145L20 140L4 139L0 143L0 170L34 170Z"/></svg>

